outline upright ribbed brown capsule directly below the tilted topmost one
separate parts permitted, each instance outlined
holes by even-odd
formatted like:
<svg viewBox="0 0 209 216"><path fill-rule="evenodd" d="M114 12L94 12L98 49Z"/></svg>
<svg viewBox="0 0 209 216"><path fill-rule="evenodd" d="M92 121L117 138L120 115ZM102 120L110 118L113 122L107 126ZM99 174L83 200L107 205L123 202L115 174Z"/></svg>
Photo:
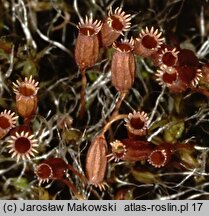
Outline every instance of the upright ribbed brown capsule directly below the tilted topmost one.
<svg viewBox="0 0 209 216"><path fill-rule="evenodd" d="M125 39L113 44L116 50L111 63L112 85L121 93L129 91L135 78L133 43L133 39Z"/></svg>

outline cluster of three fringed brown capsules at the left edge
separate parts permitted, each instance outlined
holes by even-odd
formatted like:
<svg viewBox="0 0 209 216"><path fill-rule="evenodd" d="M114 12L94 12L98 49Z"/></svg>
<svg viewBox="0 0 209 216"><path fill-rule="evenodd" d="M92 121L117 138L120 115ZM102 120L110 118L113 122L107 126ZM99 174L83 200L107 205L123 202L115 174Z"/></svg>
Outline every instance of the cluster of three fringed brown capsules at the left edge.
<svg viewBox="0 0 209 216"><path fill-rule="evenodd" d="M13 83L15 93L16 111L4 110L0 113L0 138L9 135L6 147L9 149L12 158L30 160L38 153L38 141L31 128L30 121L37 109L38 82L32 77L23 81L17 80ZM22 124L18 124L18 117L23 119Z"/></svg>

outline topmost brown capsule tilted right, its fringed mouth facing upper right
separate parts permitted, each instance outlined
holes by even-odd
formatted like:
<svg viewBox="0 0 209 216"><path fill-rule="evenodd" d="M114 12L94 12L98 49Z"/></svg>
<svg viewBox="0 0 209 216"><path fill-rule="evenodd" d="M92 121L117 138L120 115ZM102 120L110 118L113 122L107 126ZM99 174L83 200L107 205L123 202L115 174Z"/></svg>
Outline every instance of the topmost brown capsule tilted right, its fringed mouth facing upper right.
<svg viewBox="0 0 209 216"><path fill-rule="evenodd" d="M101 29L102 45L111 46L123 31L128 31L131 26L130 20L131 15L125 14L122 8L117 7L114 12L110 8Z"/></svg>

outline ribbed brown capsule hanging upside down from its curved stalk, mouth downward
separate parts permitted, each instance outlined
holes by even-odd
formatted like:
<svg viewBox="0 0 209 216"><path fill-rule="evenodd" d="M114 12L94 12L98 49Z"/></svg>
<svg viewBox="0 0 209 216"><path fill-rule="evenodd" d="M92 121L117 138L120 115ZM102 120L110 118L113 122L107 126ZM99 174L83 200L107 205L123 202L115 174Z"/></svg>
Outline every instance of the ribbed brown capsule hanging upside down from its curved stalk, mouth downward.
<svg viewBox="0 0 209 216"><path fill-rule="evenodd" d="M96 136L88 149L86 157L86 175L89 184L104 189L104 177L107 167L107 143L103 135Z"/></svg>

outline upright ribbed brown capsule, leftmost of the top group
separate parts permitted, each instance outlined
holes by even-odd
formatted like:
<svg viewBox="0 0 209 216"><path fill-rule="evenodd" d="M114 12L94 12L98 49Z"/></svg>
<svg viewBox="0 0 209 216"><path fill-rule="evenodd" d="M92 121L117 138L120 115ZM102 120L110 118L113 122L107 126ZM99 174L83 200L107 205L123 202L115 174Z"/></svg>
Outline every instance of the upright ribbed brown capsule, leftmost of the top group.
<svg viewBox="0 0 209 216"><path fill-rule="evenodd" d="M86 17L85 21L78 24L79 34L75 45L75 61L80 70L92 67L99 56L98 33L101 29L101 21L94 21L92 17Z"/></svg>

